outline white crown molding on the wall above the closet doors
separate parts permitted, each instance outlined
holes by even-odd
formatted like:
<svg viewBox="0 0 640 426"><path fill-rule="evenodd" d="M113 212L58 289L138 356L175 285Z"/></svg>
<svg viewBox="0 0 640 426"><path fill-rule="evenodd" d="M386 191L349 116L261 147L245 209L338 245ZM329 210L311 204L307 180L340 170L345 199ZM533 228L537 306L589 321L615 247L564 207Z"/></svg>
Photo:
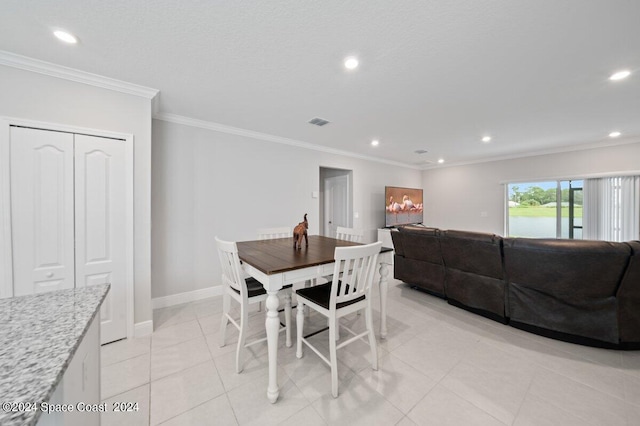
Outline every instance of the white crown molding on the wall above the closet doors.
<svg viewBox="0 0 640 426"><path fill-rule="evenodd" d="M7 52L5 50L0 50L0 65L37 72L51 77L71 80L147 99L153 99L159 92L158 89L127 83L126 81L116 80L114 78L104 77L85 71L79 71L62 65L52 64L51 62L41 61L39 59L16 55L15 53Z"/></svg>

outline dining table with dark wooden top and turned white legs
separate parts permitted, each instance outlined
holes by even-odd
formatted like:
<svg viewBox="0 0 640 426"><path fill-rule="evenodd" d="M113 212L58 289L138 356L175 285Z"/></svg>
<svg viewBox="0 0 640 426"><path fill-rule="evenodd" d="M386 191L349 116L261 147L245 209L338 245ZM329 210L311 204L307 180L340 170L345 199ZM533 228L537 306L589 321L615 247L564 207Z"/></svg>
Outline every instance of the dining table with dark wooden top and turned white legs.
<svg viewBox="0 0 640 426"><path fill-rule="evenodd" d="M269 384L267 398L275 403L279 387L277 377L278 337L280 329L278 290L282 287L328 276L334 272L336 247L359 245L335 238L309 236L309 246L293 248L292 238L241 241L237 243L238 255L247 274L258 280L267 291L265 329L269 354ZM387 337L387 288L389 266L393 263L393 249L383 247L378 255L380 265L380 337ZM290 303L290 300L285 302ZM287 342L291 346L291 342Z"/></svg>

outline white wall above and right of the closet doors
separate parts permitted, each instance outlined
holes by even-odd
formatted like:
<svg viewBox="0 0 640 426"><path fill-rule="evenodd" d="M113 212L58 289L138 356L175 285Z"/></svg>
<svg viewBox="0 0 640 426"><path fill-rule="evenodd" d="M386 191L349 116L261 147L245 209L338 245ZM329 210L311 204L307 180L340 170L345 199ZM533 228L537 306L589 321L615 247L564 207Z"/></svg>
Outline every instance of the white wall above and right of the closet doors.
<svg viewBox="0 0 640 426"><path fill-rule="evenodd" d="M151 101L7 66L0 93L1 116L134 135L134 321L150 321Z"/></svg>

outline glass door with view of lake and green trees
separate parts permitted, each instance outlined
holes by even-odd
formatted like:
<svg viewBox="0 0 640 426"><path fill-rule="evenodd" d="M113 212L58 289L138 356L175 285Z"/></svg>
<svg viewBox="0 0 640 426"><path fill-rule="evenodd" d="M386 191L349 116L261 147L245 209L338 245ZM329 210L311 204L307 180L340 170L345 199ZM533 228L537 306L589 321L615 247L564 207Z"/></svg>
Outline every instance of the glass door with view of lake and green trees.
<svg viewBox="0 0 640 426"><path fill-rule="evenodd" d="M582 239L582 181L507 185L510 237Z"/></svg>

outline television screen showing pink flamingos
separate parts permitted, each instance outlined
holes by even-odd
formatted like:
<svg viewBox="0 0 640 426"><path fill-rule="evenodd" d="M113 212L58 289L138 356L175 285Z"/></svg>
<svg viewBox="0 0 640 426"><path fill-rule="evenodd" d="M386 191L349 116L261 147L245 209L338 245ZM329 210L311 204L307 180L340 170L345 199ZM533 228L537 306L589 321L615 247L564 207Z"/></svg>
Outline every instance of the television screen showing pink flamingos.
<svg viewBox="0 0 640 426"><path fill-rule="evenodd" d="M385 186L385 226L422 223L422 189Z"/></svg>

